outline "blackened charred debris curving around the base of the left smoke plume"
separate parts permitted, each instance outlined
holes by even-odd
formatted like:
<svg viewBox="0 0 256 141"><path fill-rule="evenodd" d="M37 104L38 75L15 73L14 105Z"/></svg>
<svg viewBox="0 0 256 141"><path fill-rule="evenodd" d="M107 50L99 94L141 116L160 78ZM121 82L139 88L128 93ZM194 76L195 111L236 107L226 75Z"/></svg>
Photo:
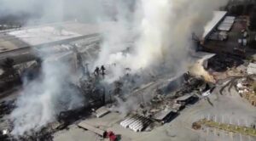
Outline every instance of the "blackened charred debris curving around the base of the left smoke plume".
<svg viewBox="0 0 256 141"><path fill-rule="evenodd" d="M98 81L94 77L90 79L80 79L79 85L69 83L70 87L79 90L79 93L84 95L86 101L84 106L74 110L61 111L55 122L49 123L37 132L25 133L19 137L13 137L11 132L14 128L13 121L10 121L8 116L15 108L15 100L4 101L0 104L1 121L4 125L0 125L1 140L26 140L26 141L49 141L52 140L53 133L68 129L68 126L75 123L76 121L83 120L87 116L90 116L93 110L98 109L105 104L105 93L104 89L99 86Z"/></svg>

